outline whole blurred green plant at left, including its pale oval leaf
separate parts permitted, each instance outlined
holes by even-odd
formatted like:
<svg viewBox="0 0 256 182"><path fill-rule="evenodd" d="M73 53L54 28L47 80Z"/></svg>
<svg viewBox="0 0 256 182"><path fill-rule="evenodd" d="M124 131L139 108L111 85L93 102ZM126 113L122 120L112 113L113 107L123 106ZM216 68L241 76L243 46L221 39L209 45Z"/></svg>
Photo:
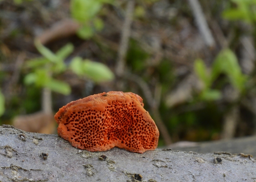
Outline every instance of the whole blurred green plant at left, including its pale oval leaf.
<svg viewBox="0 0 256 182"><path fill-rule="evenodd" d="M73 52L73 45L66 44L57 53L52 53L39 40L35 40L35 46L43 57L27 61L26 67L32 69L32 71L25 76L24 83L27 85L34 84L39 88L49 88L64 95L70 94L71 88L69 84L56 80L53 77L68 69L64 60ZM70 69L78 76L86 76L95 82L111 81L114 79L114 74L104 64L83 60L80 57L71 60Z"/></svg>

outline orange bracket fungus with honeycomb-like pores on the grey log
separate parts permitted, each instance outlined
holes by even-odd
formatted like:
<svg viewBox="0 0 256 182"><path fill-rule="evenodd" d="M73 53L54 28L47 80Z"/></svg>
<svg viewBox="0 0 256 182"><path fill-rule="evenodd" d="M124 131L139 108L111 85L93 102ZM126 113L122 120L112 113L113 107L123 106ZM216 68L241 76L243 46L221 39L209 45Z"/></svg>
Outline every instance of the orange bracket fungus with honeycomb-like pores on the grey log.
<svg viewBox="0 0 256 182"><path fill-rule="evenodd" d="M59 136L91 152L113 147L130 152L154 150L159 131L143 108L142 98L131 92L104 92L72 101L55 115Z"/></svg>

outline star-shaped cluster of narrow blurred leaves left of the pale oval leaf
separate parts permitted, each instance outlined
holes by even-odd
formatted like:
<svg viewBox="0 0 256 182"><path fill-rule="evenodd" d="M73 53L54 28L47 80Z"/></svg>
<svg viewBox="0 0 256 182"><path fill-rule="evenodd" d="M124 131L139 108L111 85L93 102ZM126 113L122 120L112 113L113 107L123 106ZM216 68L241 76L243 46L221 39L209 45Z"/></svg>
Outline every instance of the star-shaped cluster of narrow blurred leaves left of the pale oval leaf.
<svg viewBox="0 0 256 182"><path fill-rule="evenodd" d="M64 59L73 51L73 45L67 44L60 48L56 54L43 46L39 40L35 40L35 46L43 55L43 58L36 58L27 62L26 66L31 68L32 71L25 76L24 83L49 88L65 95L70 94L70 86L65 82L54 79L53 76L66 70Z"/></svg>

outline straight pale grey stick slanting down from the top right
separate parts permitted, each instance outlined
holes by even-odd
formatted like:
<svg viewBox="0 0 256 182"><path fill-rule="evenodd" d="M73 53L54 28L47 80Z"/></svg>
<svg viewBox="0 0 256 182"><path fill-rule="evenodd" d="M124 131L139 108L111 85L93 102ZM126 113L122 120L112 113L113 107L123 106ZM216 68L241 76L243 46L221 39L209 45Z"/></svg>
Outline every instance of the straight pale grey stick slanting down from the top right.
<svg viewBox="0 0 256 182"><path fill-rule="evenodd" d="M188 0L188 2L190 3L190 7L192 8L192 12L197 22L198 29L204 38L205 44L209 47L214 47L216 43L213 39L213 35L211 34L211 30L207 25L204 13L198 0Z"/></svg>

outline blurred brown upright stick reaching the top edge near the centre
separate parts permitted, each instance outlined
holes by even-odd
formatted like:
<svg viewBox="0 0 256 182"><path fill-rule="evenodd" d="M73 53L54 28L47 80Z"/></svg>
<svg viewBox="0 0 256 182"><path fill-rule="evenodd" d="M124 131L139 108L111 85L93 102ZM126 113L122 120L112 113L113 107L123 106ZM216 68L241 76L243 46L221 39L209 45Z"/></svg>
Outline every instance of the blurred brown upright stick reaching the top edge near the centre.
<svg viewBox="0 0 256 182"><path fill-rule="evenodd" d="M120 48L118 52L117 62L116 62L116 75L122 76L125 68L125 58L128 49L128 43L130 38L130 29L133 18L133 11L135 6L135 0L128 0L125 20L123 23L123 29L121 33Z"/></svg>

